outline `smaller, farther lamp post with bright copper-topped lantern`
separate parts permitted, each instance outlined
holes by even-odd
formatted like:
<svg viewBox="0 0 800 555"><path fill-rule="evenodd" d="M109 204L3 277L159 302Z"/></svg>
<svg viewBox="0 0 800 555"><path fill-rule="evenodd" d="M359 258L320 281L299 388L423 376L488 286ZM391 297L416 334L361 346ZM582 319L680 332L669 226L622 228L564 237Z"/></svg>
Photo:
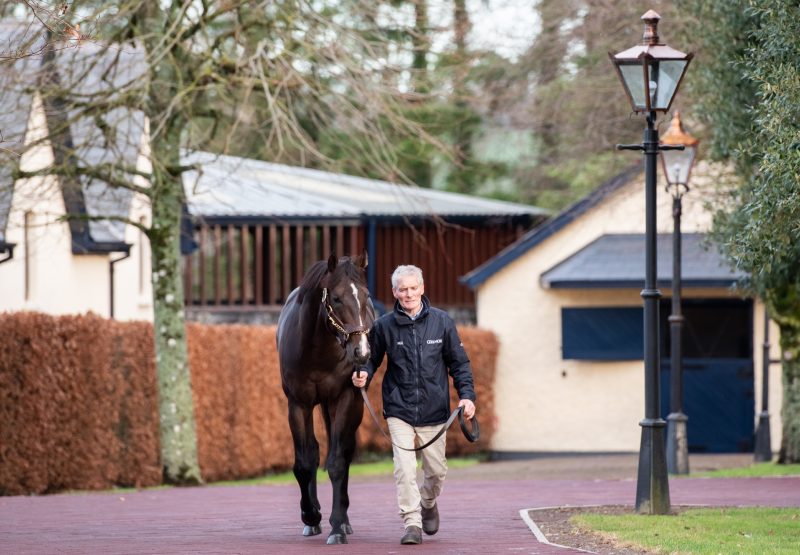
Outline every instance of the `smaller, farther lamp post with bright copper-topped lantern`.
<svg viewBox="0 0 800 555"><path fill-rule="evenodd" d="M661 137L664 145L683 145L684 150L662 150L661 163L667 178L667 192L672 195L672 314L670 327L670 413L667 416L667 472L689 474L689 443L686 435L688 417L683 413L683 314L681 313L681 212L682 197L689 192L698 140L686 133L680 113Z"/></svg>

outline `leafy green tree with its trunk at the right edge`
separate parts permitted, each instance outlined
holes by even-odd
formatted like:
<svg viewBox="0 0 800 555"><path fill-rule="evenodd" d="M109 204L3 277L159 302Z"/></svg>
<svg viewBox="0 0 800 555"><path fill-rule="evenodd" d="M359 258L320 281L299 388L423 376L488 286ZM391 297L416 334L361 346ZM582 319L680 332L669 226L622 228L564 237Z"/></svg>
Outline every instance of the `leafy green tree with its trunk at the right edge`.
<svg viewBox="0 0 800 555"><path fill-rule="evenodd" d="M800 462L800 6L685 2L702 68L694 81L712 154L740 177L715 234L777 322L783 352L779 462Z"/></svg>

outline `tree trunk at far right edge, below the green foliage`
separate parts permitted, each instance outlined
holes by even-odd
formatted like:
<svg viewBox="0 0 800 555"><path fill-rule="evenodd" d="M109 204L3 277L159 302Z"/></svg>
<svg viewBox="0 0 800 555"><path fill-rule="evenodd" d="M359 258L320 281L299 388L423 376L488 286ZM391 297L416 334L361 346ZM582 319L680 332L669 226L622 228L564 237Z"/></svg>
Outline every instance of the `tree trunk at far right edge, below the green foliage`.
<svg viewBox="0 0 800 555"><path fill-rule="evenodd" d="M800 329L781 324L783 354L783 434L778 462L800 463Z"/></svg>

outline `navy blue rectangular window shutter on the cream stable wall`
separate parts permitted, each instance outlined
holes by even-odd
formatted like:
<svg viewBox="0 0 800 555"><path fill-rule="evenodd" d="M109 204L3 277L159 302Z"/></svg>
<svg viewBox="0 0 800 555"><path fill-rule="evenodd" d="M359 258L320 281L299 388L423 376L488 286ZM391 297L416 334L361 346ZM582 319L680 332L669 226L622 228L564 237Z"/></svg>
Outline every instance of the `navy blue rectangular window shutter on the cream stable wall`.
<svg viewBox="0 0 800 555"><path fill-rule="evenodd" d="M562 308L564 359L642 360L642 307Z"/></svg>

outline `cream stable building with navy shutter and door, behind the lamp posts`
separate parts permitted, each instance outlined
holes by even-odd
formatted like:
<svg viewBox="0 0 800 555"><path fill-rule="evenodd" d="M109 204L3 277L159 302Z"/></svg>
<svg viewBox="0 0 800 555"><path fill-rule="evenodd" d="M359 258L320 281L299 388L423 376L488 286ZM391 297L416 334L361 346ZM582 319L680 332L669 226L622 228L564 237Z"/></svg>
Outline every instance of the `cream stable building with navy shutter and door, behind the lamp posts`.
<svg viewBox="0 0 800 555"><path fill-rule="evenodd" d="M700 163L683 199L683 412L690 453L753 450L764 307L736 289L707 231L715 172ZM661 415L669 413L672 197L658 189ZM644 174L629 168L462 278L477 325L500 342L497 457L635 452L644 417ZM778 335L771 327L772 337ZM778 358L773 339L772 358ZM780 369L770 369L773 451Z"/></svg>

